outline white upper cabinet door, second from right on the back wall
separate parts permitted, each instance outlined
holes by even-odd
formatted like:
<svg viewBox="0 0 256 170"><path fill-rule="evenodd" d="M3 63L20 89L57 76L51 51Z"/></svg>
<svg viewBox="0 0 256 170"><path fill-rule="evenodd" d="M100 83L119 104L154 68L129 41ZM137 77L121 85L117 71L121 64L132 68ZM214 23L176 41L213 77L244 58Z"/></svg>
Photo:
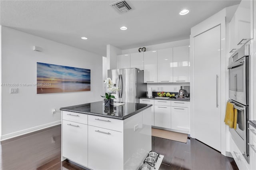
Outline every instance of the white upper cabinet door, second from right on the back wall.
<svg viewBox="0 0 256 170"><path fill-rule="evenodd" d="M158 50L158 83L172 83L172 48Z"/></svg>

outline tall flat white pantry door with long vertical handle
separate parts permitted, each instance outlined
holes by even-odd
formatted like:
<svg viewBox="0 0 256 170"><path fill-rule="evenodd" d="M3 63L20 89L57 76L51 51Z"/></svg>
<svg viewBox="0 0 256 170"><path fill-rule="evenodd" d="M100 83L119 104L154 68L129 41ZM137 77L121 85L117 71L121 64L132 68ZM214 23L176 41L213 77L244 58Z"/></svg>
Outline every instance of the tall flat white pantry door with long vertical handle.
<svg viewBox="0 0 256 170"><path fill-rule="evenodd" d="M194 37L195 138L220 151L220 26Z"/></svg>

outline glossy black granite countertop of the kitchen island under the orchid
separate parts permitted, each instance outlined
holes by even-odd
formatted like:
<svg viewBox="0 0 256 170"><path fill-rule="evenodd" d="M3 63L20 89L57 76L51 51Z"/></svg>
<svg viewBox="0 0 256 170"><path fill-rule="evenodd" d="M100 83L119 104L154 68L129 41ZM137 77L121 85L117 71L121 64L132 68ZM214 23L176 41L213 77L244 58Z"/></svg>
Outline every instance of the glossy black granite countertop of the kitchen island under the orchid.
<svg viewBox="0 0 256 170"><path fill-rule="evenodd" d="M152 105L142 103L124 103L122 106L105 107L104 101L97 101L82 105L62 107L60 110L124 120L150 106Z"/></svg>

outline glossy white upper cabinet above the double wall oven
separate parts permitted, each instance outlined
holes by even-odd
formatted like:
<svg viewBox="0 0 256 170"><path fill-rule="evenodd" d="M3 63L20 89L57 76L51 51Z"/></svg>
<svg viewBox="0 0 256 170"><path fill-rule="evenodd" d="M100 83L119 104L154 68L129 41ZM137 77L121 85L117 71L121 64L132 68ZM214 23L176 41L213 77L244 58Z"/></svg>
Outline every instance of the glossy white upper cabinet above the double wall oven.
<svg viewBox="0 0 256 170"><path fill-rule="evenodd" d="M242 0L230 21L230 55L253 39L252 1Z"/></svg>

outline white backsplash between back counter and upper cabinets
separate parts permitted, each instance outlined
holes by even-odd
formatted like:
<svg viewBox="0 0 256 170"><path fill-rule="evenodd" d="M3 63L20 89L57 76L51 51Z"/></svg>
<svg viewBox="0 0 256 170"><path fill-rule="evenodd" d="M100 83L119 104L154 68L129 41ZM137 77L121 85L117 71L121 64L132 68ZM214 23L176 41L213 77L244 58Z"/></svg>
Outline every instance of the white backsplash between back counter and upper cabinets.
<svg viewBox="0 0 256 170"><path fill-rule="evenodd" d="M152 87L152 91L179 92L180 86L190 85L190 83L147 83L147 87Z"/></svg>

